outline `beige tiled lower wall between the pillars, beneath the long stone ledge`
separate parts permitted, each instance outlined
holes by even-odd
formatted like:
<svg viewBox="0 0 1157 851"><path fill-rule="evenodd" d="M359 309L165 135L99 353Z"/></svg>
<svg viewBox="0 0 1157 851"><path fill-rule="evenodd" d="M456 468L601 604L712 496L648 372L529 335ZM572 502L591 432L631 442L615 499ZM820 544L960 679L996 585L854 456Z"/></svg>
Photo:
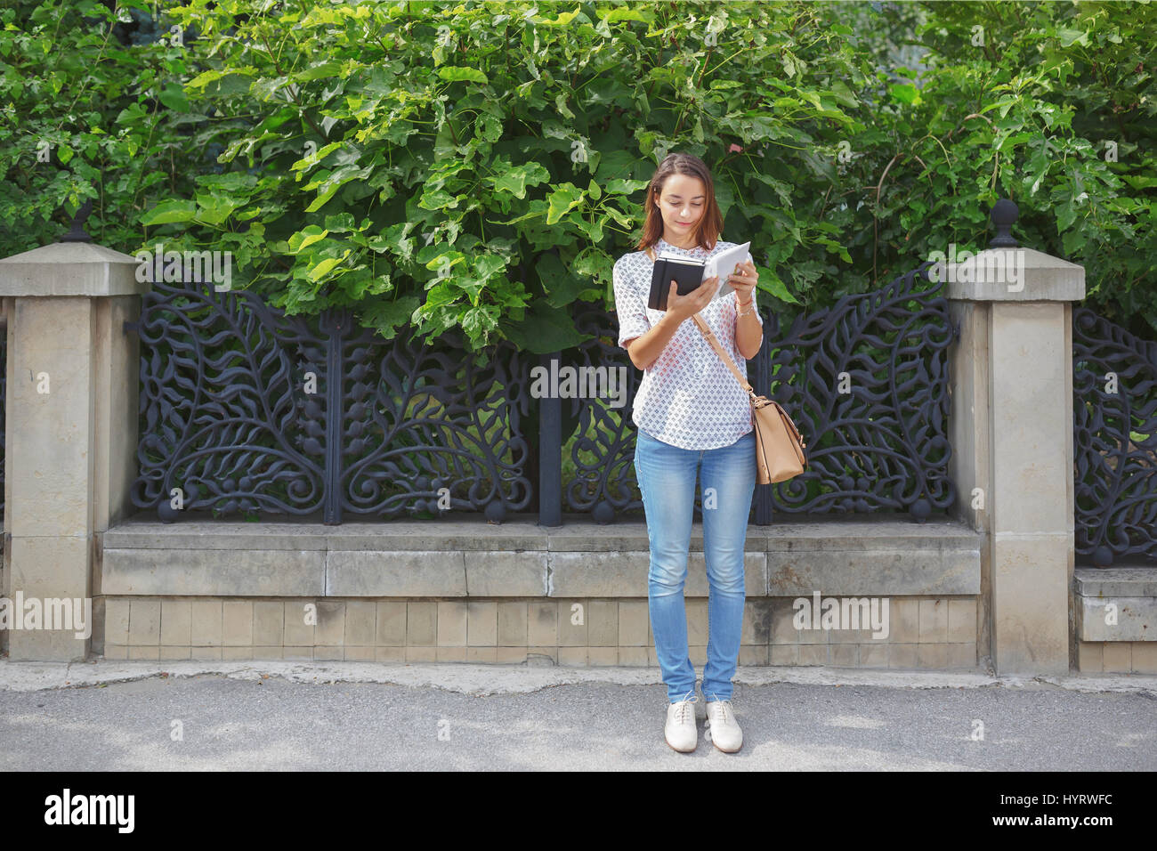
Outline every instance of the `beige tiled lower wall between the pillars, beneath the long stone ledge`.
<svg viewBox="0 0 1157 851"><path fill-rule="evenodd" d="M739 665L978 667L975 597L891 597L886 638L797 630L791 602L747 597ZM691 660L702 666L707 600L686 604ZM657 665L646 599L108 596L94 618L94 650L106 659Z"/></svg>

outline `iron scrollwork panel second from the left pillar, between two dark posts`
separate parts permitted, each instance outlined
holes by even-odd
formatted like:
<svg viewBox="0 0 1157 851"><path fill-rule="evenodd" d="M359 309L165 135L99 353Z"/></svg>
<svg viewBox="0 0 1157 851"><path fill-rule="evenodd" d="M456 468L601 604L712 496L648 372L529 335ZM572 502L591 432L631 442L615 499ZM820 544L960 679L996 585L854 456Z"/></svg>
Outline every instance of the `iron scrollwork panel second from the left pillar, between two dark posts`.
<svg viewBox="0 0 1157 851"><path fill-rule="evenodd" d="M485 511L500 521L530 505L529 397L514 346L496 346L481 366L464 357L456 330L430 344L361 333L344 346L342 507Z"/></svg>

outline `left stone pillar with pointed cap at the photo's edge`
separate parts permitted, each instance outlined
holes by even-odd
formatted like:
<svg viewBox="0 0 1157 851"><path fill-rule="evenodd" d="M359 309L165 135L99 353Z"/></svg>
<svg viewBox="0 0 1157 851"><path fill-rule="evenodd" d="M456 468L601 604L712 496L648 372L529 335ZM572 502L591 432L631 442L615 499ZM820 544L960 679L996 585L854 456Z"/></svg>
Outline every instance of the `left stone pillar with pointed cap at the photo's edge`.
<svg viewBox="0 0 1157 851"><path fill-rule="evenodd" d="M71 241L0 261L8 320L0 595L23 625L32 600L80 600L68 608L82 617L93 609L104 531L131 511L139 355L124 323L138 318L149 285L137 281L132 257L87 239L78 225ZM0 633L9 659L84 659L89 638L75 634L91 623L46 625L42 609L40 629Z"/></svg>

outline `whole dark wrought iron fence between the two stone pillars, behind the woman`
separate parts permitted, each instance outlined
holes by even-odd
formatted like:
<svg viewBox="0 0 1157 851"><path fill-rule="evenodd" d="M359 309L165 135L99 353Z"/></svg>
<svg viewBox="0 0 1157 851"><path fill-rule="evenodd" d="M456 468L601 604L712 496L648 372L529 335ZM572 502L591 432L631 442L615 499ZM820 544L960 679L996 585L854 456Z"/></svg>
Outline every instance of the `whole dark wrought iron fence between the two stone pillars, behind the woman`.
<svg viewBox="0 0 1157 851"><path fill-rule="evenodd" d="M900 509L923 520L952 504L955 330L939 286L926 286L929 265L786 330L765 308L765 345L749 375L791 411L810 465L757 487L757 522L776 511ZM348 313L307 321L246 292L155 284L132 327L141 339L133 501L165 520L179 509L326 523L465 509L498 521L537 509L553 526L563 512L599 522L638 513L631 402L640 374L616 345L613 314L589 306L576 323L590 339L565 353L528 358L502 344L466 359L455 332L429 345L386 342ZM626 404L537 397L531 369L552 361L621 367Z"/></svg>

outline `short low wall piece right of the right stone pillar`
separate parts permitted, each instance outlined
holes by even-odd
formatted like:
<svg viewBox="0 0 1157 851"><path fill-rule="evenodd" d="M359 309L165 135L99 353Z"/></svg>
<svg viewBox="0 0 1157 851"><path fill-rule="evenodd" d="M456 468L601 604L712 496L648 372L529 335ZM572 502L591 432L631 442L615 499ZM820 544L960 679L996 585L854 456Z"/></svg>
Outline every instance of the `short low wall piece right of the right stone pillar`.
<svg viewBox="0 0 1157 851"><path fill-rule="evenodd" d="M1074 572L1081 641L1157 641L1157 570L1077 567ZM1106 623L1108 607L1117 623Z"/></svg>

